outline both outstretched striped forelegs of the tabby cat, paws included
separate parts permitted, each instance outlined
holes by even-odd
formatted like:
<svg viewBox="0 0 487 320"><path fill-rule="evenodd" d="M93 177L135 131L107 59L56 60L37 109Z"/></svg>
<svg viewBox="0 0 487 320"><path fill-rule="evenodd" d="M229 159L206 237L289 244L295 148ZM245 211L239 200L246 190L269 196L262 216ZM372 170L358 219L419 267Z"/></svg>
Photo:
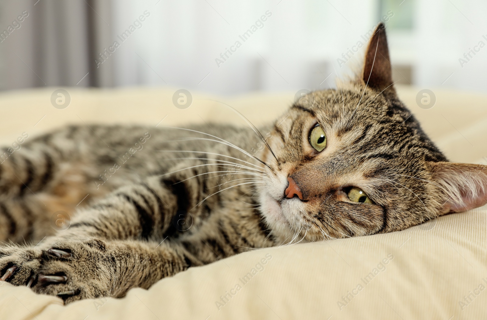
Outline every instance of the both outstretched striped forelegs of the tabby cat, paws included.
<svg viewBox="0 0 487 320"><path fill-rule="evenodd" d="M153 176L142 184L122 187L80 210L67 230L35 247L0 247L1 279L30 285L36 292L69 291L63 295L71 301L113 295L113 290L124 293L132 286L148 287L184 270L190 261L199 264L170 239L162 242L178 210L191 208L199 199L188 196L199 194L198 182L184 178ZM127 278L126 271L147 256L151 267L144 272L153 276Z"/></svg>

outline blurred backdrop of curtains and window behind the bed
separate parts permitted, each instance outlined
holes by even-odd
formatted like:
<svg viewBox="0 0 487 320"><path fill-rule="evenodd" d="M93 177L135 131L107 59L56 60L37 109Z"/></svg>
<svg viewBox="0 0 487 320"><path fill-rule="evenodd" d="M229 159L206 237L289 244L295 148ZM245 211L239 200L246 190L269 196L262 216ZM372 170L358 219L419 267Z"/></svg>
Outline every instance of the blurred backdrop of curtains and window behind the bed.
<svg viewBox="0 0 487 320"><path fill-rule="evenodd" d="M383 21L395 81L485 92L486 12L485 0L2 0L0 89L326 88Z"/></svg>

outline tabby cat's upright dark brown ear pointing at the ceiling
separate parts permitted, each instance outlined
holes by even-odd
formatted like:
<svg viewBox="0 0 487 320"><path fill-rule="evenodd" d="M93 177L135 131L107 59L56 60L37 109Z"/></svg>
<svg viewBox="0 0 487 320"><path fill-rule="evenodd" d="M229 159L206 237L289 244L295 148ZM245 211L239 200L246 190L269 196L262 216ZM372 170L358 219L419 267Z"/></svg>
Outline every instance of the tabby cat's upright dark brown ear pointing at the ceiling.
<svg viewBox="0 0 487 320"><path fill-rule="evenodd" d="M383 23L375 27L374 34L369 40L365 52L362 69L363 82L378 91L394 92L391 63L389 62L389 48L387 46L386 30Z"/></svg>

